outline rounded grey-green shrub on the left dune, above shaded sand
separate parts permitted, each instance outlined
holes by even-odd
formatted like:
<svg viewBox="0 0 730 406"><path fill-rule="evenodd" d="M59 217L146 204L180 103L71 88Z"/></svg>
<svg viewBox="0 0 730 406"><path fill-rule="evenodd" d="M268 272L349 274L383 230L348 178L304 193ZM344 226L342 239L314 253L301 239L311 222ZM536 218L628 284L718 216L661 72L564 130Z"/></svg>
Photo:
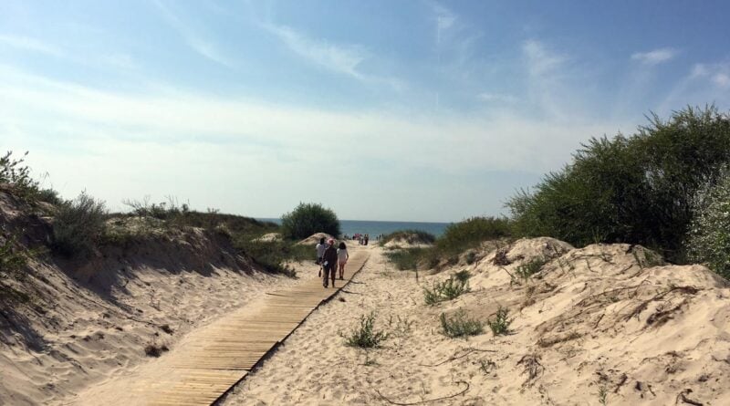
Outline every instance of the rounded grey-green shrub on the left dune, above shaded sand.
<svg viewBox="0 0 730 406"><path fill-rule="evenodd" d="M87 255L104 230L106 209L86 192L58 207L53 222L53 246L63 255Z"/></svg>

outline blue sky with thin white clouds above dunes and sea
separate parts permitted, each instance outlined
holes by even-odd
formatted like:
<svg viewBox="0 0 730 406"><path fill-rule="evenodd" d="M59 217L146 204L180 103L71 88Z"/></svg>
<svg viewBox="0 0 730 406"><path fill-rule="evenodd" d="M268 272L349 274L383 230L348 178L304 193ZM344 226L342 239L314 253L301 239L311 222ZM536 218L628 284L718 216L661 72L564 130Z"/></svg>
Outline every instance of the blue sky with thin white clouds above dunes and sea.
<svg viewBox="0 0 730 406"><path fill-rule="evenodd" d="M0 0L0 148L46 186L278 217L505 213L580 142L730 108L721 1Z"/></svg>

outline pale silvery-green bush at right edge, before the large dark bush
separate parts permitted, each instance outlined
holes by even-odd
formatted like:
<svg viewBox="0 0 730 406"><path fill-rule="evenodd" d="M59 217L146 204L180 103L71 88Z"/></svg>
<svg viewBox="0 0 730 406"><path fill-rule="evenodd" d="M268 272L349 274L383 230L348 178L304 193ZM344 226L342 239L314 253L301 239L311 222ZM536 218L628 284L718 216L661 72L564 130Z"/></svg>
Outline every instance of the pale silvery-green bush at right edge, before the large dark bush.
<svg viewBox="0 0 730 406"><path fill-rule="evenodd" d="M730 168L716 185L698 191L694 213L686 244L689 259L730 278Z"/></svg>

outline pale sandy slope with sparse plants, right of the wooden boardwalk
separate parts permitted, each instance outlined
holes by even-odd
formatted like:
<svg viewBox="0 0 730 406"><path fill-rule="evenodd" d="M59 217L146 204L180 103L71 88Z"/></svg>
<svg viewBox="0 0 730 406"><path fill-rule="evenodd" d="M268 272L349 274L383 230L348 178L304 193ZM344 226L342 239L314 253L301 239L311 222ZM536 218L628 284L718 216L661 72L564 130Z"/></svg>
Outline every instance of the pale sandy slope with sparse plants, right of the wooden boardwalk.
<svg viewBox="0 0 730 406"><path fill-rule="evenodd" d="M380 247L362 249L370 261L339 299L224 404L584 405L600 404L600 393L607 404L730 404L730 288L703 266L662 265L640 246L573 249L540 238L417 282ZM549 259L536 276L509 276L536 256ZM473 275L471 293L423 304L423 284L462 269ZM507 336L440 333L442 312L485 320L499 306L514 318ZM391 338L370 351L344 346L340 334L370 311Z"/></svg>

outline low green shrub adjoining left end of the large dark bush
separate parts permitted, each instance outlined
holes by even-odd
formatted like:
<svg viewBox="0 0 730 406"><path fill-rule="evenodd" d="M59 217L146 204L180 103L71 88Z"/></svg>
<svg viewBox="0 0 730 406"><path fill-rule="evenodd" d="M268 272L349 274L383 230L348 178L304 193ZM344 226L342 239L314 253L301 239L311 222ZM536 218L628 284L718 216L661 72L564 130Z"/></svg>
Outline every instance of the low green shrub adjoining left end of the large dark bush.
<svg viewBox="0 0 730 406"><path fill-rule="evenodd" d="M506 218L472 217L449 224L443 235L436 240L436 247L450 255L459 254L483 241L511 235L510 228L510 222Z"/></svg>

